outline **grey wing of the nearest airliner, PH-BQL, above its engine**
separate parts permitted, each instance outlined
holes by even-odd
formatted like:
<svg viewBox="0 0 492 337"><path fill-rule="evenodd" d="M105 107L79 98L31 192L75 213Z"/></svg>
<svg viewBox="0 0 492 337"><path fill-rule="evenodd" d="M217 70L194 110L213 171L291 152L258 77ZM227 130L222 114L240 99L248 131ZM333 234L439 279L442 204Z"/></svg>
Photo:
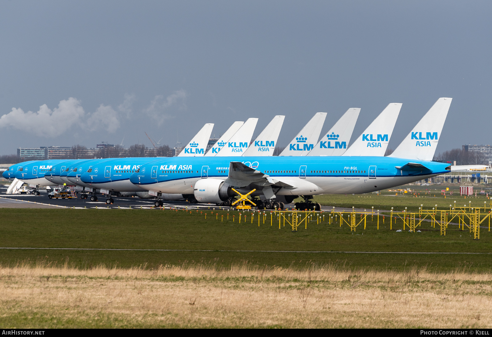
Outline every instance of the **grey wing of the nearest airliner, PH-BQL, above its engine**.
<svg viewBox="0 0 492 337"><path fill-rule="evenodd" d="M245 187L250 184L254 184L258 186L275 185L281 187L294 187L290 184L284 183L276 178L273 178L268 174L250 168L241 162L230 162L229 176L225 180L225 183L237 187Z"/></svg>

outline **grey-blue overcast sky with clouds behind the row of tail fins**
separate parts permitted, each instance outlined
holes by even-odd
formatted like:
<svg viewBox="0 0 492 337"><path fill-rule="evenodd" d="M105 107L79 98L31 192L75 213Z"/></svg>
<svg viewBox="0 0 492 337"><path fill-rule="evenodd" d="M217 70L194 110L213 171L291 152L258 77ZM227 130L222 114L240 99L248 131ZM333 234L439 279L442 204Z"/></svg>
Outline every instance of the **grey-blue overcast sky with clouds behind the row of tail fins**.
<svg viewBox="0 0 492 337"><path fill-rule="evenodd" d="M403 103L393 149L452 97L437 152L491 144L491 1L2 1L0 154L101 141L174 146L316 112L352 141Z"/></svg>

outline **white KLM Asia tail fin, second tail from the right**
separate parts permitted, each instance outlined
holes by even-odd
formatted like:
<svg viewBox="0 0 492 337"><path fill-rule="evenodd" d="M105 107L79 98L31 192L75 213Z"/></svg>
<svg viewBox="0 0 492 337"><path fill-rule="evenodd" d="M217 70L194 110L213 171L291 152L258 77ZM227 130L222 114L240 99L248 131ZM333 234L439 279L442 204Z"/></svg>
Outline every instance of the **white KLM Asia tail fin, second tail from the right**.
<svg viewBox="0 0 492 337"><path fill-rule="evenodd" d="M342 156L383 157L395 128L401 103L389 103Z"/></svg>

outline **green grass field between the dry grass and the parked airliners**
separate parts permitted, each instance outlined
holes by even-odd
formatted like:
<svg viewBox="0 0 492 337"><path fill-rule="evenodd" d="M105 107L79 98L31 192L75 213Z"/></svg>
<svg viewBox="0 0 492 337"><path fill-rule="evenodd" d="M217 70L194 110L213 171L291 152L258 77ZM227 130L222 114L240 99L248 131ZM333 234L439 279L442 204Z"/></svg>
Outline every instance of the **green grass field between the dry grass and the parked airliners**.
<svg viewBox="0 0 492 337"><path fill-rule="evenodd" d="M353 200L357 196L350 196ZM349 196L343 198L350 198ZM397 200L397 198L372 196L360 200ZM322 198L322 197L320 197ZM342 197L337 197L342 198ZM411 201L411 198L402 197ZM338 199L342 201L343 199ZM415 200L415 199L414 199ZM478 200L478 199L477 199ZM344 200L349 202L350 200ZM368 202L361 202L366 207ZM356 205L357 206L357 205ZM369 207L368 207L369 208ZM381 206L381 208L383 208ZM146 265L213 264L227 267L237 264L305 268L312 264L335 264L350 268L378 270L403 270L409 266L428 266L432 270L487 270L492 268L489 255L471 254L377 254L377 253L313 253L312 251L360 252L492 252L492 236L482 228L481 239L472 240L469 231L459 231L450 225L446 236L437 228L423 223L422 233L397 233L402 223L397 221L389 230L388 218L380 221L368 218L355 233L348 226L329 225L328 221L307 224L292 233L290 227L278 229L278 221L270 226L270 216L258 226L257 217L251 224L247 214L239 224L237 210L200 212L173 210L108 210L108 209L0 209L1 247L56 247L56 248L123 248L123 249L189 249L211 251L108 251L108 250L0 250L0 263L14 265L19 261L44 260L89 268L99 264L131 267ZM211 214L214 212L214 215ZM229 215L229 221L220 221ZM232 215L235 215L233 222ZM326 214L326 213L325 213ZM217 250L252 250L256 252L220 252ZM260 250L285 250L289 252L258 252ZM301 251L301 252L293 252Z"/></svg>

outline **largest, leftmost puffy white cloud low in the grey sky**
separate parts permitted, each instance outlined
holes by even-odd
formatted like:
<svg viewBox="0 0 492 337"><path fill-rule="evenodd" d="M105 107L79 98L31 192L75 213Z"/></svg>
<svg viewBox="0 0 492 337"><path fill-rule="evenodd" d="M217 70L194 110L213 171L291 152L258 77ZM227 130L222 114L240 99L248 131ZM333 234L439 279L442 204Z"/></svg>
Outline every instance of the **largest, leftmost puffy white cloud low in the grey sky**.
<svg viewBox="0 0 492 337"><path fill-rule="evenodd" d="M46 104L39 107L37 112L24 112L21 108L0 117L0 128L14 128L42 137L57 137L78 125L85 116L80 101L70 97L60 101L58 108L49 109Z"/></svg>

